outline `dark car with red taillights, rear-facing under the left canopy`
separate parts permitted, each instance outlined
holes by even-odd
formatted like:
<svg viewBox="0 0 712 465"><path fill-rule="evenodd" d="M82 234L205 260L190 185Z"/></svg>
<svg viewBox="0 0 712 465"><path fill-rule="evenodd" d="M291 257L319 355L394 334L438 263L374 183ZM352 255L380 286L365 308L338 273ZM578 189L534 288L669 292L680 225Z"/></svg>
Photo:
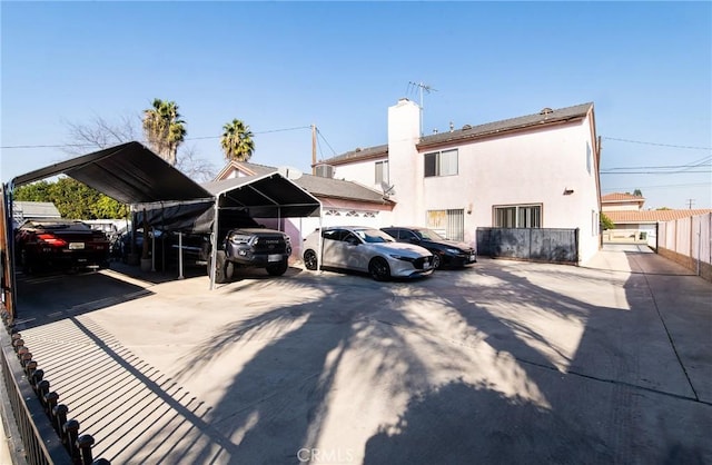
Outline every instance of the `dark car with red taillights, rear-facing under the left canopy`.
<svg viewBox="0 0 712 465"><path fill-rule="evenodd" d="M17 229L14 239L17 259L28 274L109 264L106 235L78 220L29 220Z"/></svg>

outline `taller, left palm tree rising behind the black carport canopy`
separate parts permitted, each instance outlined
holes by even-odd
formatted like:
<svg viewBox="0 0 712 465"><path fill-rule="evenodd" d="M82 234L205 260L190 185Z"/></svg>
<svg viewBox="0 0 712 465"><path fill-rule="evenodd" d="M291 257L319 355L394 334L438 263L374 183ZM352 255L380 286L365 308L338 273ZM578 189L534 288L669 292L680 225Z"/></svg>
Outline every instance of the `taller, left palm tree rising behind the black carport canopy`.
<svg viewBox="0 0 712 465"><path fill-rule="evenodd" d="M176 165L178 146L186 138L185 125L175 101L154 99L151 108L144 111L146 140L170 165Z"/></svg>

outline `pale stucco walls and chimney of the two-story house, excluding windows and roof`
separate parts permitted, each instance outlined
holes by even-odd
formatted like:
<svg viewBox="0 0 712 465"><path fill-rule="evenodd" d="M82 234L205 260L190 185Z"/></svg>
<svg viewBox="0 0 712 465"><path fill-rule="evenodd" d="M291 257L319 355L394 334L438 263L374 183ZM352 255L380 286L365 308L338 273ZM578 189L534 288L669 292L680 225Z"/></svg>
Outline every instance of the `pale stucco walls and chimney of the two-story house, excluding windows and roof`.
<svg viewBox="0 0 712 465"><path fill-rule="evenodd" d="M477 227L492 227L493 207L542 205L542 227L578 228L580 258L599 250L599 192L591 121L503 136L458 149L458 174L424 177L419 110L400 100L388 109L389 182L396 201L396 225L425 225L427 210L463 209L465 241L474 244ZM338 166L335 177L375 185L375 161ZM564 190L573 190L565 195ZM377 221L380 222L380 221ZM377 225L384 226L384 225Z"/></svg>

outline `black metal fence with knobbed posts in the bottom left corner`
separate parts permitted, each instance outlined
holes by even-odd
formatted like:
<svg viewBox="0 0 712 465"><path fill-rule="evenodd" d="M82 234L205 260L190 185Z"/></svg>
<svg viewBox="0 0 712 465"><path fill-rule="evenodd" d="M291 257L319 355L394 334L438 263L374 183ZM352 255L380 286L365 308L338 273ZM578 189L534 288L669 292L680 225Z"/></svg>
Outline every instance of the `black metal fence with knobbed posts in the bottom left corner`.
<svg viewBox="0 0 712 465"><path fill-rule="evenodd" d="M50 389L22 335L10 323L7 310L1 311L2 387L19 429L24 461L30 465L109 465L103 458L92 458L93 437L79 435L79 422L67 419L69 408L59 404L59 394Z"/></svg>

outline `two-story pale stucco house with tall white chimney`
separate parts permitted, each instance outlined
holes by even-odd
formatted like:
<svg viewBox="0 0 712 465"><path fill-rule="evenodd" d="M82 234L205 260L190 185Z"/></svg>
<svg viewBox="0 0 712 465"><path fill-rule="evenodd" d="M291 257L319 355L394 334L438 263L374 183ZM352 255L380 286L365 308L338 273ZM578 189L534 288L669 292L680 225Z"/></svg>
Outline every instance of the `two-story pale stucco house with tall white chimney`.
<svg viewBox="0 0 712 465"><path fill-rule="evenodd" d="M335 178L395 201L394 225L427 226L476 241L478 227L578 230L580 261L600 247L593 103L421 136L421 108L388 108L388 144L326 160ZM387 226L383 221L376 226Z"/></svg>

